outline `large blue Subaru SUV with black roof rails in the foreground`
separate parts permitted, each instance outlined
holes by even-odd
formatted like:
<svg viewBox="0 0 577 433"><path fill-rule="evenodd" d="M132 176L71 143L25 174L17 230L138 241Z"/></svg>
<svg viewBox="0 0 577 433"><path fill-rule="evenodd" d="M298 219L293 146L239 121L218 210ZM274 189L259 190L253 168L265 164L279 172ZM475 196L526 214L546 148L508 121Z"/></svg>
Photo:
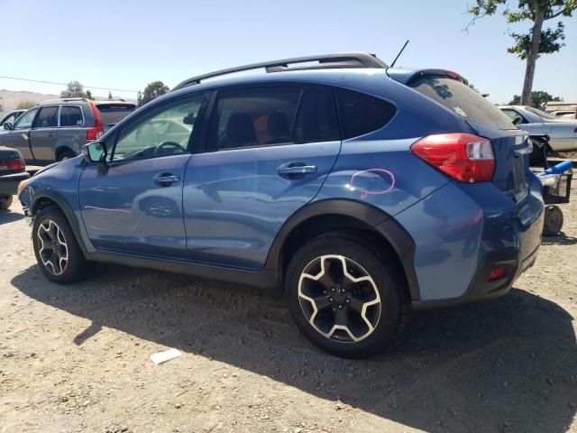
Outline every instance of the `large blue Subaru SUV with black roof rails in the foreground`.
<svg viewBox="0 0 577 433"><path fill-rule="evenodd" d="M50 281L94 261L280 288L307 338L360 357L535 262L530 150L452 71L331 54L190 78L19 197Z"/></svg>

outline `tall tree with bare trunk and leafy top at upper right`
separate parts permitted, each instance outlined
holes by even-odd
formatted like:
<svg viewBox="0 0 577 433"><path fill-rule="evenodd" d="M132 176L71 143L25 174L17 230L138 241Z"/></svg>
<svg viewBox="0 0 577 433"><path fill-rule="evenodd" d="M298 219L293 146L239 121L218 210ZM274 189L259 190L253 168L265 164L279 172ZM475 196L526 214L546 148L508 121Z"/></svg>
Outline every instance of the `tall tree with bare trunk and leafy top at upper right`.
<svg viewBox="0 0 577 433"><path fill-rule="evenodd" d="M555 29L547 28L545 31L543 24L558 16L572 16L573 11L577 9L577 0L517 0L517 8L512 9L508 7L508 0L476 0L476 5L467 11L473 16L467 28L478 18L496 14L500 5L505 6L502 14L508 23L523 21L533 23L527 33L509 33L515 44L507 50L517 54L519 59L527 60L521 104L529 105L537 58L540 54L557 52L564 46L563 23L558 22Z"/></svg>

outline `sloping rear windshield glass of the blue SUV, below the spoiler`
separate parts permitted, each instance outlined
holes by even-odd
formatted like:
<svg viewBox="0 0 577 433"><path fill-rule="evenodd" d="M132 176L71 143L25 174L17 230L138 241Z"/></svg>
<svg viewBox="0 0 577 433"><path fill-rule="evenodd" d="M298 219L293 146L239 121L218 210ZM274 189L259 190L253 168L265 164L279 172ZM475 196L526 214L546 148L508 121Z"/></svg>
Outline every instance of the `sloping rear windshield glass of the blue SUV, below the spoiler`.
<svg viewBox="0 0 577 433"><path fill-rule="evenodd" d="M497 129L516 129L507 115L492 105L479 93L452 78L429 77L411 85L418 92L430 97L465 120Z"/></svg>

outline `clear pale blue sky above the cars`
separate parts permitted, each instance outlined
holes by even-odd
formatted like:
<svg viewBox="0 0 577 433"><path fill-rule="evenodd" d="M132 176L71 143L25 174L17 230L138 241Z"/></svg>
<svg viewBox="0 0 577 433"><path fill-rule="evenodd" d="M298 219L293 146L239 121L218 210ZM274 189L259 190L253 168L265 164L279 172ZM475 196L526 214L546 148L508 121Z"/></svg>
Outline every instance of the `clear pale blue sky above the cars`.
<svg viewBox="0 0 577 433"><path fill-rule="evenodd" d="M0 0L0 76L67 83L93 95L136 97L215 69L339 51L368 51L398 66L452 69L494 103L521 93L525 62L507 52L502 16L477 21L474 0ZM511 4L517 2L511 1ZM575 14L577 15L577 14ZM534 90L577 100L577 16L566 46L537 60ZM0 78L0 88L59 94L61 85Z"/></svg>

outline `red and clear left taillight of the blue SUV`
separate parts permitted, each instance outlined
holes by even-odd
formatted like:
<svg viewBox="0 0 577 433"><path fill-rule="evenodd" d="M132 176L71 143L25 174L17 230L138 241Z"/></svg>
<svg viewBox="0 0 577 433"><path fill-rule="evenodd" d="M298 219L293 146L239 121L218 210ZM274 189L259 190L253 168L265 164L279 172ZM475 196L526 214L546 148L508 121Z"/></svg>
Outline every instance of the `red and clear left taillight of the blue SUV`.
<svg viewBox="0 0 577 433"><path fill-rule="evenodd" d="M460 182L485 182L495 171L490 141L473 134L428 135L413 143L411 152Z"/></svg>

